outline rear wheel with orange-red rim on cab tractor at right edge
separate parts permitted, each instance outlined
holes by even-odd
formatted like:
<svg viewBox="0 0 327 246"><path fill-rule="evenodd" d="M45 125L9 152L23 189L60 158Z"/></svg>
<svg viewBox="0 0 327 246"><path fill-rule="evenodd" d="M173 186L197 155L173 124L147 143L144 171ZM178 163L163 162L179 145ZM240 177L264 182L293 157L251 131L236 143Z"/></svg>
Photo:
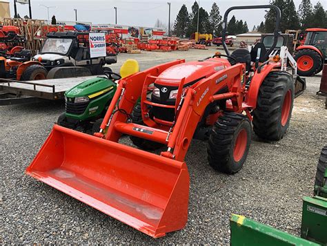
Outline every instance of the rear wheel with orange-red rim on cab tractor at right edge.
<svg viewBox="0 0 327 246"><path fill-rule="evenodd" d="M307 48L295 53L294 59L297 61L297 74L300 76L313 76L321 71L324 64L319 53Z"/></svg>

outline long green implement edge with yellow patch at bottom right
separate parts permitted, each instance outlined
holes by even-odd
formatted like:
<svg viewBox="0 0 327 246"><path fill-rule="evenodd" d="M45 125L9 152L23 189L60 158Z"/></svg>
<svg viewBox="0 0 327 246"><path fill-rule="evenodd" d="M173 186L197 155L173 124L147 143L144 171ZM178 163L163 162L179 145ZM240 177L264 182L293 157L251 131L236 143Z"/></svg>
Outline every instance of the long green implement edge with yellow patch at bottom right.
<svg viewBox="0 0 327 246"><path fill-rule="evenodd" d="M233 246L319 245L237 214L232 214L230 217L230 244Z"/></svg>

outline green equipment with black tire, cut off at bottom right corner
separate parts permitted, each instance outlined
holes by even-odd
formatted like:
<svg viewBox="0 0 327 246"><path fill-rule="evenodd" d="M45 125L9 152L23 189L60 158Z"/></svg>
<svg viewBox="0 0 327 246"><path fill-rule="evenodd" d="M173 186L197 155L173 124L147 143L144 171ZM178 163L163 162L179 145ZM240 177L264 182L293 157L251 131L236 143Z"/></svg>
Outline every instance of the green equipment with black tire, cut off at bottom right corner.
<svg viewBox="0 0 327 246"><path fill-rule="evenodd" d="M232 214L230 245L327 245L327 145L320 154L314 195L303 198L301 238Z"/></svg>

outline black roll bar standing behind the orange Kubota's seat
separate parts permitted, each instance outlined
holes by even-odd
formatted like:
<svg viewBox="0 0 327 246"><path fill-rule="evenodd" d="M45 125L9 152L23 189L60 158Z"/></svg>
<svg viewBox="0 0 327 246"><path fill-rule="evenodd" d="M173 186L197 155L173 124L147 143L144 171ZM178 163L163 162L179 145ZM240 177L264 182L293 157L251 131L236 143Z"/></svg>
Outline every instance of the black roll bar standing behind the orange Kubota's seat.
<svg viewBox="0 0 327 246"><path fill-rule="evenodd" d="M268 59L269 54L274 50L274 48L277 45L278 41L278 36L280 35L279 32L279 24L281 21L281 10L275 5L255 5L255 6L235 6L235 7L230 7L228 10L226 10L225 15L224 15L224 20L223 20L223 30L221 32L221 37L222 37L222 44L224 47L224 50L226 52L226 55L230 55L230 52L226 46L226 32L227 32L227 19L228 19L228 14L232 10L251 10L251 9L259 9L259 8L270 8L276 11L276 25L275 25L275 30L274 30L274 43L273 46L270 47L268 52L266 53L266 59Z"/></svg>

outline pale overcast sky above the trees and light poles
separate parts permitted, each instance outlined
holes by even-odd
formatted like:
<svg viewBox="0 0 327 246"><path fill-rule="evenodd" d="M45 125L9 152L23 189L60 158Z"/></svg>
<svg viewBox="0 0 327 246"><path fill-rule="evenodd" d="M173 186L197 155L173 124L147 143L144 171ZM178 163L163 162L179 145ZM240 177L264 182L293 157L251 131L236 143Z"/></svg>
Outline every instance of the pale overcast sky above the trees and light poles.
<svg viewBox="0 0 327 246"><path fill-rule="evenodd" d="M10 1L11 15L14 15L13 1ZM117 7L117 23L128 26L155 26L157 19L163 23L168 23L168 4L171 3L171 18L170 21L175 21L177 13L183 3L186 4L188 11L190 12L191 6L194 1L179 1L179 0L30 0L32 5L32 17L33 19L48 19L47 9L43 6L55 6L56 8L50 8L50 18L55 15L57 21L74 21L75 12L77 9L77 15L79 21L88 21L92 23L115 23L115 10L114 6ZM315 5L318 0L311 0L311 3ZM200 0L200 6L206 11L210 12L212 3L214 1ZM269 0L217 0L215 1L219 8L221 15L227 8L231 6L241 5L259 5L267 4ZM294 0L296 8L299 8L301 0ZM327 0L320 1L327 9ZM21 17L28 15L28 6L17 3L17 12ZM248 27L251 30L254 25L258 25L264 20L264 10L236 10L231 13L235 14L237 19L243 19L248 22ZM230 16L231 17L231 16Z"/></svg>

